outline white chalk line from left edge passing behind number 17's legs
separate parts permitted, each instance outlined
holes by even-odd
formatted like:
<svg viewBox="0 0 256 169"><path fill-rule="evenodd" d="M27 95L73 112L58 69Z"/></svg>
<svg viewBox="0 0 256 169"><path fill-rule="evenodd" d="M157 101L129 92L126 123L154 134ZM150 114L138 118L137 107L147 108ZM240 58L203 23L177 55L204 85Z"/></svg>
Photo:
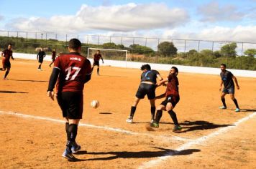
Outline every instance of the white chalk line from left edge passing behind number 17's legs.
<svg viewBox="0 0 256 169"><path fill-rule="evenodd" d="M34 116L34 115L24 115L22 113L18 113L18 112L4 112L0 110L0 115L15 115L18 117L23 117L23 118L32 118L32 119L37 119L37 120L47 120L47 121L51 121L51 122L58 122L58 123L65 123L64 120L58 120L58 119L54 119L54 118L50 118L50 117L40 117L40 116ZM178 137L178 136L157 136L157 135L151 135L148 133L143 133L143 132L132 132L129 130L123 130L120 128L116 128L116 127L107 127L107 126L99 126L99 125L90 125L90 124L86 124L83 122L79 122L79 126L83 126L83 127L91 127L91 128L97 128L97 129L102 129L102 130L109 130L109 131L113 131L113 132L121 132L127 135L144 135L147 137L152 137L153 139L158 139L158 140L163 140L166 142L171 143L173 140L176 141L183 141L183 142L188 142L191 141L191 139L188 138L184 138L184 137Z"/></svg>

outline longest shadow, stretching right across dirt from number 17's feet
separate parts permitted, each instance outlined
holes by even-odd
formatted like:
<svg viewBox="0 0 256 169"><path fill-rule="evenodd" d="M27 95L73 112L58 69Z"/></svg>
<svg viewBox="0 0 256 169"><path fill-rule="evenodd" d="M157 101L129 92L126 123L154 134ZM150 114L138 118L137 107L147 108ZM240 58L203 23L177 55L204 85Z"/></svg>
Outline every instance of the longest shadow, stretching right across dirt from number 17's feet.
<svg viewBox="0 0 256 169"><path fill-rule="evenodd" d="M165 148L156 148L157 151L139 151L139 152L131 152L131 151L110 151L110 152L78 152L77 154L91 154L91 155L109 155L108 157L102 158L88 158L86 160L114 160L116 158L157 158L168 155L191 155L193 153L199 152L199 149L186 149L186 150L170 150Z"/></svg>

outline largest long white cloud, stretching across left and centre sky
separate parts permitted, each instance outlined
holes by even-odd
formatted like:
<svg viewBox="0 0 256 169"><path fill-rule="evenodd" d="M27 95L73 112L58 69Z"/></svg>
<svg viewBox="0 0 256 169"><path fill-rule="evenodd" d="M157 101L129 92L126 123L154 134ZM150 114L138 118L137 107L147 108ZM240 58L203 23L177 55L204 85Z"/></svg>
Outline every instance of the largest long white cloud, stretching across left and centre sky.
<svg viewBox="0 0 256 169"><path fill-rule="evenodd" d="M86 32L173 28L188 21L188 14L165 4L124 4L113 6L83 5L74 16L52 16L50 19L15 19L6 27L22 31Z"/></svg>

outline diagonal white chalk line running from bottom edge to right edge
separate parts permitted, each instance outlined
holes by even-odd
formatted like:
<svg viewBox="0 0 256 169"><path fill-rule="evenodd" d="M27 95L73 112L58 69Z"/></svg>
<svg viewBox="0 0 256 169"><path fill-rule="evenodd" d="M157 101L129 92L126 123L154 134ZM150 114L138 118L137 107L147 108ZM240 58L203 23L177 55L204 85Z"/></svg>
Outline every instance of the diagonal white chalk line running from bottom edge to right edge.
<svg viewBox="0 0 256 169"><path fill-rule="evenodd" d="M211 134L209 134L209 135L199 137L196 140L192 140L188 143L185 143L185 144L181 145L180 147L176 148L175 151L179 152L181 150L186 150L186 149L190 148L192 145L201 145L202 143L209 140L211 137L215 137L215 136L223 134L224 132L232 130L234 127L237 127L237 125L240 125L242 122L245 122L245 121L247 121L250 118L255 117L255 116L256 116L256 112L248 115L247 117L244 117L244 118L238 120L237 122L234 122L234 124L232 126L221 128L221 129L217 130L216 132L211 132ZM162 163L165 160L168 160L169 158L171 158L175 154L177 154L177 153L166 153L165 155L163 155L163 156L161 156L161 157L159 157L155 160L150 160L148 162L142 163L142 165L140 165L139 168L140 169L156 168L157 165L160 165L160 163Z"/></svg>

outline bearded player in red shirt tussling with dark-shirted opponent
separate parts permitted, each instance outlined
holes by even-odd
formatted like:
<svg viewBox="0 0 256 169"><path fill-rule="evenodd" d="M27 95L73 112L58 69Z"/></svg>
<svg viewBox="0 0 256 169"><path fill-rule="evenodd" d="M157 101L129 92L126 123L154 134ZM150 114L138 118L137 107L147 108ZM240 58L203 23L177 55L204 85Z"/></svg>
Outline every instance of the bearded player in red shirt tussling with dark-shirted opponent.
<svg viewBox="0 0 256 169"><path fill-rule="evenodd" d="M155 115L155 121L150 124L151 127L159 127L160 119L163 115L163 110L166 110L170 117L173 120L174 128L173 132L181 130L180 125L178 124L178 119L176 116L176 113L173 111L175 105L180 100L180 95L178 91L178 68L172 67L170 69L170 74L168 78L163 79L159 85L165 84L165 82L168 82L166 87L166 92L163 95L157 96L156 99L165 97L165 100L157 106L157 114Z"/></svg>

